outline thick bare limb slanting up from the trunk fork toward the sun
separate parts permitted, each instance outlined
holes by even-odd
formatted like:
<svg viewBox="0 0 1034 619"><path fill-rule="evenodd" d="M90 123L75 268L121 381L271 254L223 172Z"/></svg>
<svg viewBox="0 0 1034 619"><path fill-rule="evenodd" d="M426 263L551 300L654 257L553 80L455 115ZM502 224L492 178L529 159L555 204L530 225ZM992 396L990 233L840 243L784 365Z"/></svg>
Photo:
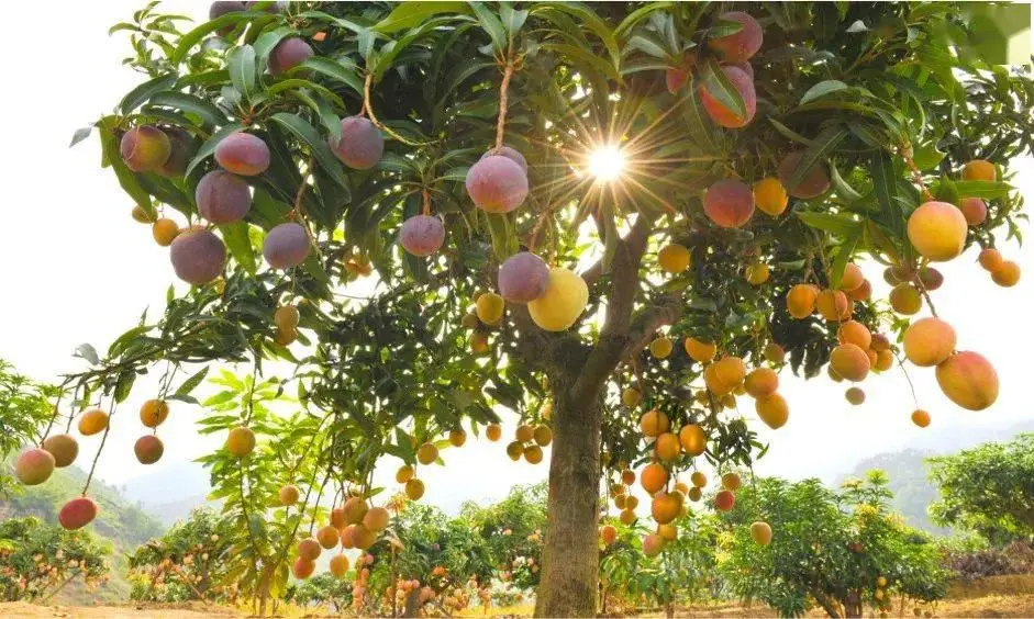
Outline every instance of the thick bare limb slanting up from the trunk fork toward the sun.
<svg viewBox="0 0 1034 619"><path fill-rule="evenodd" d="M632 229L618 245L611 266L613 286L607 296L607 317L603 319L599 341L592 348L571 387L575 402L598 397L600 386L613 373L633 344L632 311L638 293L640 265L652 229L653 224L640 215Z"/></svg>

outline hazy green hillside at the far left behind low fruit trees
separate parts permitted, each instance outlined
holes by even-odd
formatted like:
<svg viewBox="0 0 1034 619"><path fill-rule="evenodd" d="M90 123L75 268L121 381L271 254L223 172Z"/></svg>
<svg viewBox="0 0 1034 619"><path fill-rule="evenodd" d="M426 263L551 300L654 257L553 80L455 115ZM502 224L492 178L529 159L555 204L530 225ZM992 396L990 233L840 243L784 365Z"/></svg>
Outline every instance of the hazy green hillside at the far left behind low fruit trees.
<svg viewBox="0 0 1034 619"><path fill-rule="evenodd" d="M62 505L77 496L85 482L86 473L81 469L58 469L44 484L0 497L0 519L35 516L47 524L57 525L57 513ZM126 500L118 488L100 480L90 482L89 494L100 506L100 511L88 530L111 544L111 579L92 593L81 586L69 585L57 599L69 604L90 603L93 599L124 601L130 594L130 584L125 579L125 555L141 543L164 533L166 528L140 506Z"/></svg>

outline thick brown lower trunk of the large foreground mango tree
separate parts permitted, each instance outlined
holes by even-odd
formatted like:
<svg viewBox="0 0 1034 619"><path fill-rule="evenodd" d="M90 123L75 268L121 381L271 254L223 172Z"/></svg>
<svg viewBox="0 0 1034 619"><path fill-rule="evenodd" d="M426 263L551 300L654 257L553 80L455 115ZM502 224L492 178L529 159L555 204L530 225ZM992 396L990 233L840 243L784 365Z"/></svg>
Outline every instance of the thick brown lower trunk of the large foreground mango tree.
<svg viewBox="0 0 1034 619"><path fill-rule="evenodd" d="M600 403L598 394L574 402L569 387L554 381L548 528L536 617L594 617L597 609Z"/></svg>

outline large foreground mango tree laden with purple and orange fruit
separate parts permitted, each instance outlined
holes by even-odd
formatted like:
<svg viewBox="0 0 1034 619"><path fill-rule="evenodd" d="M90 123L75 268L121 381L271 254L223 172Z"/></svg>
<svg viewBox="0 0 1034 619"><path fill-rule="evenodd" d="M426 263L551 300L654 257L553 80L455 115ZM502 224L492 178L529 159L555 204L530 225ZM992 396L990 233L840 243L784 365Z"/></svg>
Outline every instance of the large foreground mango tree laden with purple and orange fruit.
<svg viewBox="0 0 1034 619"><path fill-rule="evenodd" d="M203 428L227 436L205 463L249 533L265 614L288 561L304 578L324 550L390 536L371 487L383 455L419 499L422 469L468 430L501 440L507 408L522 419L510 458L553 447L536 614L591 616L598 536L614 537L601 488L626 525L651 513L641 543L657 555L707 461L714 508L754 543L779 538L764 500L736 505L732 469L764 452L752 426L790 423L783 368L861 383L908 360L935 373L935 413L989 407L998 376L956 349L936 263L979 245L988 285L1020 278L1003 170L1032 150L1029 74L976 55L953 3L734 9L215 2L191 27L154 4L116 24L142 82L75 139L96 130L190 288L103 356L80 347L90 368L18 476L74 460L73 424L107 437L159 371L134 446L155 462L210 364L249 365ZM886 266L889 299L861 260ZM288 390L285 420L265 403ZM936 417L913 404L916 425ZM96 516L88 488L65 527Z"/></svg>

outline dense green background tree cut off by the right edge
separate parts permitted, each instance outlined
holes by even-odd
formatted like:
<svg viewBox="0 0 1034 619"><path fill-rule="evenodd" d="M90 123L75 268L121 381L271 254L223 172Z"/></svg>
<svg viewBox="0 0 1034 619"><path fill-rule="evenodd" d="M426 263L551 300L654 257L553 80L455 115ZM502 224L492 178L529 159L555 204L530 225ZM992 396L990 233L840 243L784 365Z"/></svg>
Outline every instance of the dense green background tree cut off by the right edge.
<svg viewBox="0 0 1034 619"><path fill-rule="evenodd" d="M1034 434L927 462L941 492L930 506L936 522L978 531L997 544L1034 536Z"/></svg>

